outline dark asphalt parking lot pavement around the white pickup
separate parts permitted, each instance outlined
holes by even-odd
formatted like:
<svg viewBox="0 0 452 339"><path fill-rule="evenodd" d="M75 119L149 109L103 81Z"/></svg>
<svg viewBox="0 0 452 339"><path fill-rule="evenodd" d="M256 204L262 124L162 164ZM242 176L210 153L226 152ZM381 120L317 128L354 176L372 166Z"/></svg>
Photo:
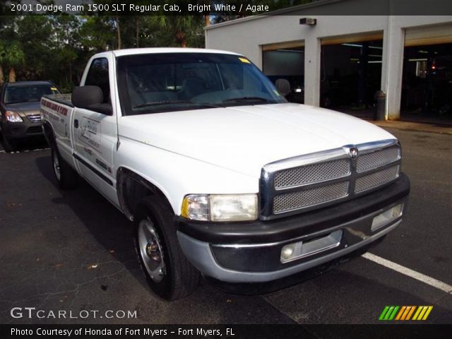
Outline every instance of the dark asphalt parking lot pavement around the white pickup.
<svg viewBox="0 0 452 339"><path fill-rule="evenodd" d="M432 305L425 322L452 323L452 135L390 131L412 191L404 222L374 256L268 295L230 295L202 281L172 303L150 294L131 224L105 198L83 181L59 191L42 145L0 150L0 323L379 323L386 305ZM14 319L13 307L137 316Z"/></svg>

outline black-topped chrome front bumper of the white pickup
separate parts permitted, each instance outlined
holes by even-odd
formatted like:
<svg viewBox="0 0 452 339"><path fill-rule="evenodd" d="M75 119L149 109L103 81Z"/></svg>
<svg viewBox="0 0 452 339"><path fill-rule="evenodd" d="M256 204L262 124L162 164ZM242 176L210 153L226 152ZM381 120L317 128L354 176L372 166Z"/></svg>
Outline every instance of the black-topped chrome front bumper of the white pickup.
<svg viewBox="0 0 452 339"><path fill-rule="evenodd" d="M346 256L391 232L402 216L374 231L372 220L405 203L409 191L408 177L400 174L396 182L378 191L290 218L232 223L177 218L177 236L185 256L203 275L226 283L266 283ZM335 246L281 262L286 244L314 244L331 234L340 234Z"/></svg>

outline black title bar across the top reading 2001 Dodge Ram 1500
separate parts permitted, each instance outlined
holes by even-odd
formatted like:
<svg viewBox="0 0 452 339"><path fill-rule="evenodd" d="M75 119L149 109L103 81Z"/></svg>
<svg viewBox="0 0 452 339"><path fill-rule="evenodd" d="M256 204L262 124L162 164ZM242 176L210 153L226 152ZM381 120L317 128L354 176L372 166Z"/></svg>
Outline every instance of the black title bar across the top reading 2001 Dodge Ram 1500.
<svg viewBox="0 0 452 339"><path fill-rule="evenodd" d="M280 8L278 1L263 0L6 0L0 15L88 16L450 16L451 0L320 0L297 1Z"/></svg>

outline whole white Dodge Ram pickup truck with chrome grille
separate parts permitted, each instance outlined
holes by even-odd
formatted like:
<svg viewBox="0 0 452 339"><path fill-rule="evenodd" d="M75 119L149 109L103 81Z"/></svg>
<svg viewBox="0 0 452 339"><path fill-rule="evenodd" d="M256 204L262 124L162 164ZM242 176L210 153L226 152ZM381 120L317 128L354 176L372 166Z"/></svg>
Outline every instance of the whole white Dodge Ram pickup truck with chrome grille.
<svg viewBox="0 0 452 339"><path fill-rule="evenodd" d="M282 287L397 227L410 190L394 136L288 103L231 52L96 54L71 100L43 97L41 113L59 186L80 175L135 222L165 299L189 295L200 273Z"/></svg>

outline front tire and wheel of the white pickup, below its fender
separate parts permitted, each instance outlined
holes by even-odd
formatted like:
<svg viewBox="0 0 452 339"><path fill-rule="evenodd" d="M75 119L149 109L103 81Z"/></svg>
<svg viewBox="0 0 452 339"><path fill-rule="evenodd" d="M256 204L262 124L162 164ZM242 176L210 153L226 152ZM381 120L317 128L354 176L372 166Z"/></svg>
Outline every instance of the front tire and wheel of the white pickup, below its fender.
<svg viewBox="0 0 452 339"><path fill-rule="evenodd" d="M199 272L182 253L171 209L156 196L148 196L138 205L136 251L155 295L176 300L198 287Z"/></svg>

